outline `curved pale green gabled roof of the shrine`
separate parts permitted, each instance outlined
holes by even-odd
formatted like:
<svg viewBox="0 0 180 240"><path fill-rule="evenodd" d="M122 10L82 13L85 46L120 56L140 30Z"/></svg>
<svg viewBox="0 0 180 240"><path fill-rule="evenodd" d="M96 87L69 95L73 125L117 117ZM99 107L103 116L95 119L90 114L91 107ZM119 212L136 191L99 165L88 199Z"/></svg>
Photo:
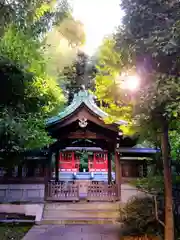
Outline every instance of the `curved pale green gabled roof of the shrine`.
<svg viewBox="0 0 180 240"><path fill-rule="evenodd" d="M57 116L52 117L47 120L47 125L56 123L63 118L71 115L74 111L76 111L83 104L90 109L94 114L96 114L99 118L105 119L109 115L100 109L94 101L94 95L90 94L87 90L81 90L77 94L74 95L74 99L72 103L65 108L63 112L60 112ZM127 122L120 120L116 122L118 125L126 125Z"/></svg>

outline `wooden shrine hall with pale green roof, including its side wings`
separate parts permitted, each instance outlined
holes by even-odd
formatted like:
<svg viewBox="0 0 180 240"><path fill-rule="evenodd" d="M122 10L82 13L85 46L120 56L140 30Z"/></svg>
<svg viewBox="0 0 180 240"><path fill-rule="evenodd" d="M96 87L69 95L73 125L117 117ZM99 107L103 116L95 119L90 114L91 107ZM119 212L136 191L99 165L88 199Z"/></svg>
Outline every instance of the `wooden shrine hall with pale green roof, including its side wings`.
<svg viewBox="0 0 180 240"><path fill-rule="evenodd" d="M24 191L31 184L29 191L36 189L33 198L40 191L42 199L48 201L120 200L122 182L146 176L147 161L143 158L153 158L157 151L134 148L137 138L124 136L119 128L127 123L106 124L107 117L92 94L79 91L63 112L46 122L54 143L43 150L26 152L11 177L4 177L4 170L1 171L0 186L4 184L4 193L7 193L7 187L12 188L12 184L17 185L18 191L22 184ZM88 153L88 173L80 173L79 152ZM66 178L69 174L71 179ZM37 184L43 185L41 190Z"/></svg>

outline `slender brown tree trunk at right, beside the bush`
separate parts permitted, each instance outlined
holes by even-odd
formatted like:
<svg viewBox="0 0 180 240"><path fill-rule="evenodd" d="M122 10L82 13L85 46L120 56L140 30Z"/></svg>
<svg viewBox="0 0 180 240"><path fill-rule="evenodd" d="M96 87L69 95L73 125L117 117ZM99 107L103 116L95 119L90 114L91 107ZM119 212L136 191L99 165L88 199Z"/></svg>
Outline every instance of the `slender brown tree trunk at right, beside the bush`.
<svg viewBox="0 0 180 240"><path fill-rule="evenodd" d="M172 177L170 164L170 148L168 136L168 124L162 123L161 150L164 168L164 188L165 188L165 240L174 240L174 217L172 199Z"/></svg>

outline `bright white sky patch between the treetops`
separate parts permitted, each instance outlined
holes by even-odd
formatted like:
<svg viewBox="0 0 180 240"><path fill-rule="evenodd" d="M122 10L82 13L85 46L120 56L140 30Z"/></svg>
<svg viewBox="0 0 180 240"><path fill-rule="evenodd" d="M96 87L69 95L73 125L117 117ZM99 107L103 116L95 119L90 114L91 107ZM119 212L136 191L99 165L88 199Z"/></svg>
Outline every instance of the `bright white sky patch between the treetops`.
<svg viewBox="0 0 180 240"><path fill-rule="evenodd" d="M120 0L71 0L73 16L84 24L86 44L83 50L93 55L105 36L120 24Z"/></svg>

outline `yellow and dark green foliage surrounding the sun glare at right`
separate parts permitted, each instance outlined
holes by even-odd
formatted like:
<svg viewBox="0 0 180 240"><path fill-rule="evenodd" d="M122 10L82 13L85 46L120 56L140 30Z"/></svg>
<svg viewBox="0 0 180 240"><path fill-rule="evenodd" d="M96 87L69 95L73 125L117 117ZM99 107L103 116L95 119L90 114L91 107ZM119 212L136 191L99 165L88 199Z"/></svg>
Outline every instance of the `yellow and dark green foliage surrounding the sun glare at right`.
<svg viewBox="0 0 180 240"><path fill-rule="evenodd" d="M180 114L179 3L126 0L121 7L123 25L99 49L96 95L111 122L126 120L124 132L159 146L162 117L171 123ZM134 68L141 85L130 93L118 76Z"/></svg>

